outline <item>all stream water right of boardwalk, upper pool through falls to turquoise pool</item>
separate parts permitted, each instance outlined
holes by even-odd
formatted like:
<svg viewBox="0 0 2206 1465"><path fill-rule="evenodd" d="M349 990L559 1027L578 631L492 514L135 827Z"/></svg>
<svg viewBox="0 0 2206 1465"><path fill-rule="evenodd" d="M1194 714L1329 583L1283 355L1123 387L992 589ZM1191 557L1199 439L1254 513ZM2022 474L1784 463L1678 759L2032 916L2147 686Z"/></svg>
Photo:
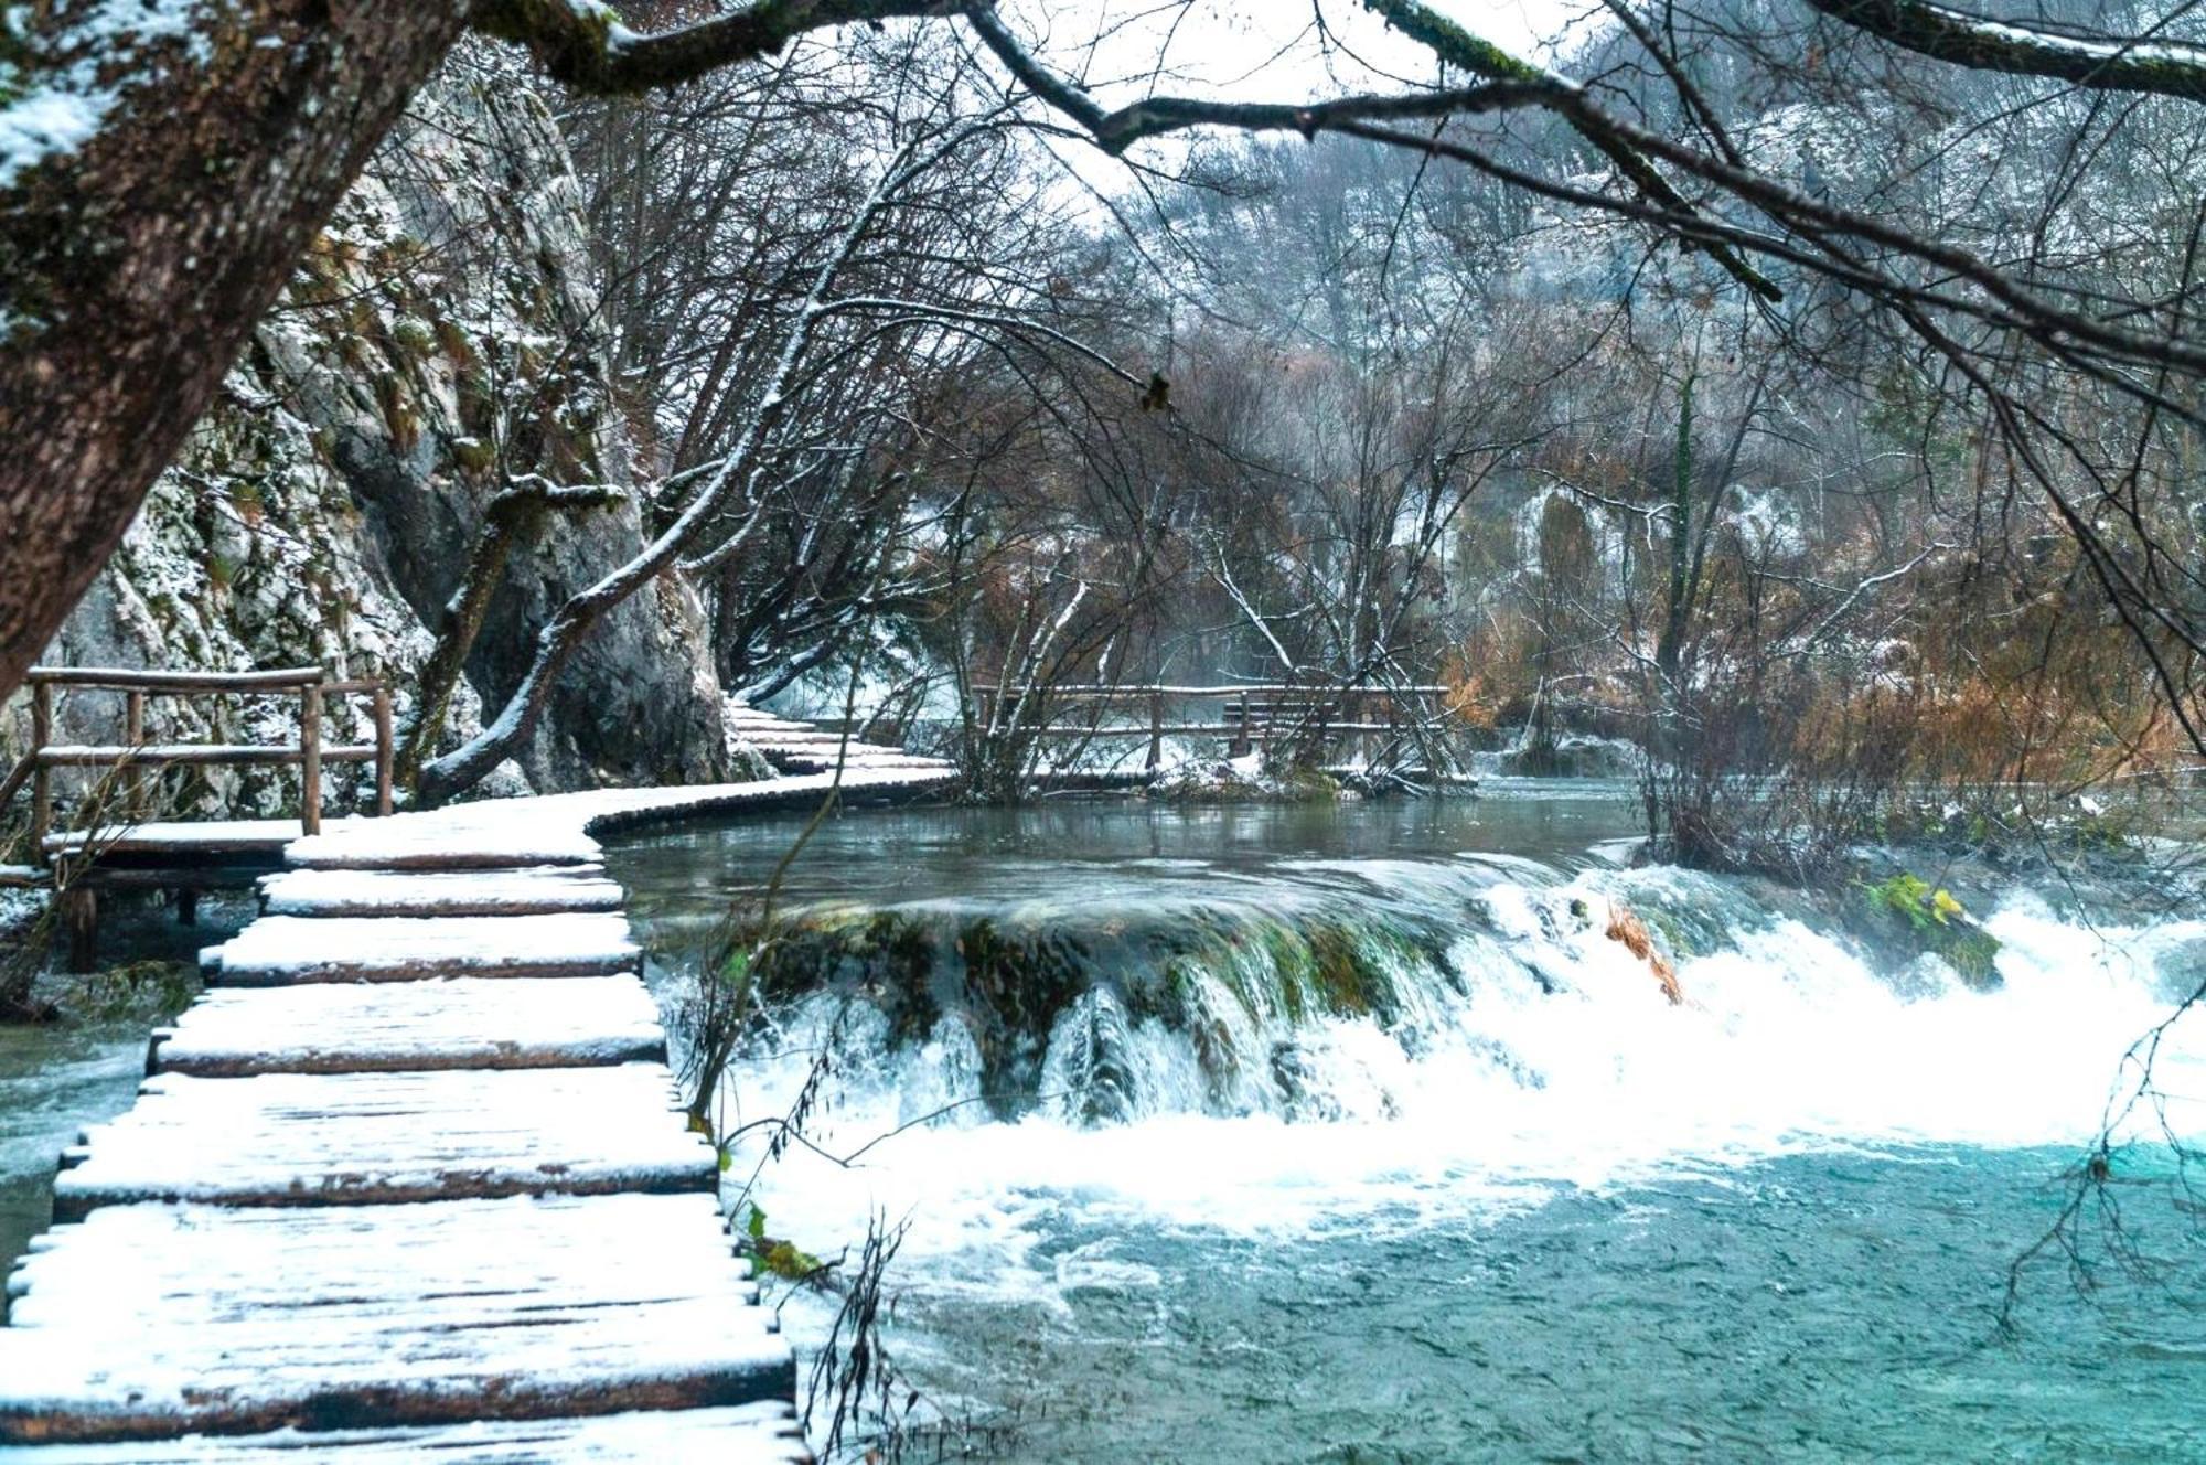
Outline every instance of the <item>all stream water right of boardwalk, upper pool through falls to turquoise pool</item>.
<svg viewBox="0 0 2206 1465"><path fill-rule="evenodd" d="M1608 1397L1617 1370L1679 1368L1659 1341L1672 1330L1736 1313L1732 1344L1816 1355L1798 1368L1816 1394L1800 1408L1820 1421L1796 1430L1816 1443L1805 1454L1977 1454L1926 1423L1921 1401L1880 1430L1875 1403L1816 1392L1860 1390L1882 1357L1833 1341L1851 1326L1849 1288L1921 1350L1886 1364L1977 1359L1957 1379L1992 1388L1999 1275L2056 1216L2052 1180L2109 1094L2135 1081L2124 1050L2206 973L2206 922L1972 889L1999 940L1999 980L1979 986L1864 940L1842 918L1855 891L1586 858L1628 821L1608 790L1516 808L1103 805L829 825L796 867L794 935L761 973L772 1019L730 1101L741 1116L781 1112L829 1052L812 1143L845 1154L900 1132L858 1167L788 1152L761 1180L774 1229L832 1251L874 1211L909 1218L907 1366L951 1414L957 1401L1039 1410L1048 1423L1026 1421L1004 1458L1639 1456L1668 1454L1663 1430L1710 1430L1685 1412L1752 1405L1738 1379L1692 1410L1685 1383L1652 1399L1624 1388L1602 1419L1516 1394L1504 1408L1458 1352L1531 1313L1546 1333L1502 1372L1544 1366ZM631 847L620 874L657 891L644 902L655 947L679 951L686 927L717 918L779 834ZM1683 1002L1610 935L1617 909L1677 962ZM2182 1277L2171 1313L2197 1300L2197 1236L2168 1205L2162 1143L2206 1134L2195 1026L2155 1052L2166 1099L2122 1121L2146 1251ZM1897 1293L1860 1273L1864 1200L1893 1231L1871 1264L1904 1275ZM1573 1266L1557 1249L1599 1255ZM1703 1315L1672 1295L1696 1266L1743 1300L1710 1293ZM1802 1266L1822 1280L1791 1275ZM1343 1293L1341 1269L1363 1280ZM1789 1286L1816 1291L1820 1322L1771 1304ZM2076 1333L2082 1304L2058 1269L2041 1293L2065 1348L2098 1337ZM2153 1414L2166 1364L2144 1368L2135 1348L2180 1344L2153 1317L2038 1375L2001 1357L2038 1390L2018 1419L2120 1454L2129 1436L2087 1394L2045 1394L2111 1368L2131 1401L2124 1430L2164 1443L2153 1430L2177 1427ZM1429 1359L1403 1352L1405 1330L1429 1335ZM1132 1368L1138 1399L1107 1403L1125 1383L1101 1357ZM1410 1397L1423 1403L1401 1416ZM1516 1434L1482 1434L1513 1410ZM1169 1421L1196 1419L1198 1439L1158 1443ZM1694 1450L1782 1454L1785 1439L1714 1430Z"/></svg>

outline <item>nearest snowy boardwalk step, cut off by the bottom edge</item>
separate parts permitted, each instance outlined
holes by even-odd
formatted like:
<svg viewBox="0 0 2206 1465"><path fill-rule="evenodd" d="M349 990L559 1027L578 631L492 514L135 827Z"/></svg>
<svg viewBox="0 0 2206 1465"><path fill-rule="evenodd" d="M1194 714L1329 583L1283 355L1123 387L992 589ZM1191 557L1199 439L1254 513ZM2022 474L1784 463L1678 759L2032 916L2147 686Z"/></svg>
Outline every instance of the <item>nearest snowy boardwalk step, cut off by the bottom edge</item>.
<svg viewBox="0 0 2206 1465"><path fill-rule="evenodd" d="M596 1419L483 1421L413 1430L282 1430L130 1445L49 1445L38 1465L340 1465L437 1461L437 1465L810 1465L788 1403L721 1410L651 1410Z"/></svg>

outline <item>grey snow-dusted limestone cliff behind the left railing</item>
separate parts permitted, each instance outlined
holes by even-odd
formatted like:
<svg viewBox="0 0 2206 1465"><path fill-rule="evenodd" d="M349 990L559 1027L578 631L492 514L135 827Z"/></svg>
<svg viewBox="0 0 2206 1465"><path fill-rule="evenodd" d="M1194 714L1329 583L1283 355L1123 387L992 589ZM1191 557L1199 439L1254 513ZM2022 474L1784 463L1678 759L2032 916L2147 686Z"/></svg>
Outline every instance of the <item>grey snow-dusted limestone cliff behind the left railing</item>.
<svg viewBox="0 0 2206 1465"><path fill-rule="evenodd" d="M351 190L46 660L318 662L390 680L404 724L490 496L527 474L631 485L631 419L646 417L609 379L580 190L545 101L454 64ZM624 494L516 549L443 746L512 691L558 600L642 534ZM684 585L638 596L567 669L518 772L538 790L719 774L702 644ZM117 702L73 697L62 726L110 737ZM289 708L157 702L150 719L161 737L271 737ZM11 724L20 744L20 708ZM274 810L287 790L223 774L174 792Z"/></svg>

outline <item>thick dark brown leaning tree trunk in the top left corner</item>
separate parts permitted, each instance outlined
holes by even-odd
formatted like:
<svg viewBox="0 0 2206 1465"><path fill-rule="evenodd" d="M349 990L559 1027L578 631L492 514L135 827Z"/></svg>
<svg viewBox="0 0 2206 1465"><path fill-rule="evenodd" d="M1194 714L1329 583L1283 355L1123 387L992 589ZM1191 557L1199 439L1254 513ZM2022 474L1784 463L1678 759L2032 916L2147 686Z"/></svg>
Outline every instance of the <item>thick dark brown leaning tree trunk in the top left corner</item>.
<svg viewBox="0 0 2206 1465"><path fill-rule="evenodd" d="M468 11L232 0L146 38L97 24L104 7L31 9L26 90L106 110L0 177L0 697Z"/></svg>

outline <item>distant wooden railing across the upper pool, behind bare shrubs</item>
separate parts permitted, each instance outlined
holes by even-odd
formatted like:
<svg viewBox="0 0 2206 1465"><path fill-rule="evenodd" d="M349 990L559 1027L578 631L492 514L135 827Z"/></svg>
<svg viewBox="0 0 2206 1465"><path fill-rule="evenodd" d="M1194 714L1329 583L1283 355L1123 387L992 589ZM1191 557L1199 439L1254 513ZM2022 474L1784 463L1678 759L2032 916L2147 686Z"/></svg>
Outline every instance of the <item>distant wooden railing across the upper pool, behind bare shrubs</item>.
<svg viewBox="0 0 2206 1465"><path fill-rule="evenodd" d="M1147 766L1154 772L1167 737L1224 737L1238 755L1266 748L1279 732L1313 730L1319 741L1346 732L1401 732L1429 721L1441 710L1445 686L1328 686L1328 684L1233 684L1233 686L1043 686L1013 695L1039 697L1048 721L1041 737L1145 737ZM979 721L995 724L1004 688L975 684ZM1167 706L1218 704L1218 721L1167 721ZM1085 719L1065 724L1072 708L1090 708ZM1103 721L1110 706L1147 710L1147 721L1112 726ZM1200 710L1198 710L1200 717Z"/></svg>

